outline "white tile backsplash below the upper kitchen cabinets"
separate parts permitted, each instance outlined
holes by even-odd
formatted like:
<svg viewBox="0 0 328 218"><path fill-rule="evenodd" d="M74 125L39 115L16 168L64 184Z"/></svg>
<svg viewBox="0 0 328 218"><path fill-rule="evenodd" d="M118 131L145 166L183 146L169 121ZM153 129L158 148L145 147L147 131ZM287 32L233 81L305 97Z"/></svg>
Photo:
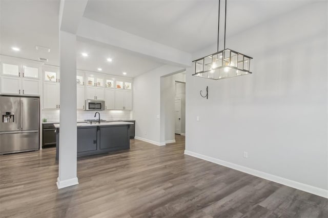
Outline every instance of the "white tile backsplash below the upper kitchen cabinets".
<svg viewBox="0 0 328 218"><path fill-rule="evenodd" d="M96 111L77 110L77 121L85 119L96 119ZM103 110L99 111L100 118L106 120L132 119L132 111L126 110ZM59 122L59 110L42 110L42 119L46 118L47 122Z"/></svg>

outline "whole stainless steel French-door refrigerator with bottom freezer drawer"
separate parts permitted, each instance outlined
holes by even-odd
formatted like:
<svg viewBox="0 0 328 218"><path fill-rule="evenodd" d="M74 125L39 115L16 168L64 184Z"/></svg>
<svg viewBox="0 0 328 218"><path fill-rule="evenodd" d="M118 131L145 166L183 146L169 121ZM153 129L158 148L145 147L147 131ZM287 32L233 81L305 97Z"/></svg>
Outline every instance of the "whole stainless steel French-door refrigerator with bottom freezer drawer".
<svg viewBox="0 0 328 218"><path fill-rule="evenodd" d="M40 99L0 95L0 154L39 149Z"/></svg>

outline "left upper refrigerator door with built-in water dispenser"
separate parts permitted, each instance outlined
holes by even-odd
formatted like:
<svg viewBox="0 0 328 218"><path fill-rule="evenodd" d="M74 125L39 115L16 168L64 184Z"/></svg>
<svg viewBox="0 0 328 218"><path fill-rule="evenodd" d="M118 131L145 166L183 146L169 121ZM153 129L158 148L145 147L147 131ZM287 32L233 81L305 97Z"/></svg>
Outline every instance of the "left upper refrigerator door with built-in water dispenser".
<svg viewBox="0 0 328 218"><path fill-rule="evenodd" d="M19 97L0 96L0 132L19 130L19 103Z"/></svg>

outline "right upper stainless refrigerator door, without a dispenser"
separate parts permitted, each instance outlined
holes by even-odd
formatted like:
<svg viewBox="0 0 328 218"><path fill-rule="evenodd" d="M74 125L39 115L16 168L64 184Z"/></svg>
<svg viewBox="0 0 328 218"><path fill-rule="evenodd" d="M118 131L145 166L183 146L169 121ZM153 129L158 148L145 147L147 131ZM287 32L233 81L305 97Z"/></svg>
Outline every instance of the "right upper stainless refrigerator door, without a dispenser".
<svg viewBox="0 0 328 218"><path fill-rule="evenodd" d="M22 119L20 119L20 127L22 130L38 130L39 129L39 105L38 98L20 98L20 110L22 111Z"/></svg>

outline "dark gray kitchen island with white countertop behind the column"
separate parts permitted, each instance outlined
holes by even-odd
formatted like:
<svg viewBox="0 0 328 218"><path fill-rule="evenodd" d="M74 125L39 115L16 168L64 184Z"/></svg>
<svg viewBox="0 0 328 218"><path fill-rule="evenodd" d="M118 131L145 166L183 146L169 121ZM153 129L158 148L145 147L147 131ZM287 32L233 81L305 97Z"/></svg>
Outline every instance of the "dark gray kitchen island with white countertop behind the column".
<svg viewBox="0 0 328 218"><path fill-rule="evenodd" d="M130 149L131 122L77 123L77 156ZM56 128L56 159L59 156L60 126Z"/></svg>

